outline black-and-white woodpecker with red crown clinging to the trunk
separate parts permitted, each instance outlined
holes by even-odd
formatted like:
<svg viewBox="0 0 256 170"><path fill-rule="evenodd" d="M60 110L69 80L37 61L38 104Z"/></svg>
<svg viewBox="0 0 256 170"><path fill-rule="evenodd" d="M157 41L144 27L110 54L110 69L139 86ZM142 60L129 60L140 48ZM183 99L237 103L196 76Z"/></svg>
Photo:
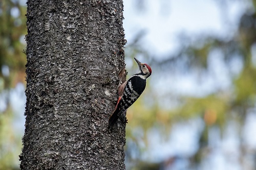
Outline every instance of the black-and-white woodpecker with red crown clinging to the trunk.
<svg viewBox="0 0 256 170"><path fill-rule="evenodd" d="M119 98L115 110L109 118L108 129L111 129L119 116L139 98L146 87L146 78L151 76L151 67L145 63L139 62L136 58L134 59L138 63L139 72L118 86Z"/></svg>

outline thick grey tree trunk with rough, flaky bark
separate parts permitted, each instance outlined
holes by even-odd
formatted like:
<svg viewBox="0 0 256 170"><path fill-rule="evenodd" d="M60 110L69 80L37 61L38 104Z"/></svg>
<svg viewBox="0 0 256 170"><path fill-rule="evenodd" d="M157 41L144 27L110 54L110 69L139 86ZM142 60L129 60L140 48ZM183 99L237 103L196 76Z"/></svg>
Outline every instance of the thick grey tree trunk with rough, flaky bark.
<svg viewBox="0 0 256 170"><path fill-rule="evenodd" d="M125 122L107 130L124 66L122 0L27 2L21 169L125 169Z"/></svg>

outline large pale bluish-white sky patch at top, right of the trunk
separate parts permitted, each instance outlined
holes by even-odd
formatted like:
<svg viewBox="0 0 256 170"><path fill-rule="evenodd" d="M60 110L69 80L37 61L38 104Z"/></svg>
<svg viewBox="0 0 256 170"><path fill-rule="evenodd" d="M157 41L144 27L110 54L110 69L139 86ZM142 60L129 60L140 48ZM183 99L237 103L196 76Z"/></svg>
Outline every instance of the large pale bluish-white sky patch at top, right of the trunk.
<svg viewBox="0 0 256 170"><path fill-rule="evenodd" d="M185 32L192 37L201 34L228 35L245 9L240 1L230 1L223 18L218 1L213 0L146 0L144 8L135 7L137 0L124 0L125 38L127 43L137 32L146 31L144 47L161 56L175 52L177 35ZM228 26L227 26L228 25Z"/></svg>

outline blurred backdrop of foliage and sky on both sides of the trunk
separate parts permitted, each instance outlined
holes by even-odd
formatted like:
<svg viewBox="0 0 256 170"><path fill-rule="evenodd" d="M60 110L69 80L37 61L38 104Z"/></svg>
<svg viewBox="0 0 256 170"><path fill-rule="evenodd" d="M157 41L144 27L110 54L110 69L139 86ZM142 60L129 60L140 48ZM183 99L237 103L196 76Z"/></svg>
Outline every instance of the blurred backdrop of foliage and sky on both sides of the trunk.
<svg viewBox="0 0 256 170"><path fill-rule="evenodd" d="M256 1L124 0L125 61L152 67L127 111L126 169L256 169ZM26 1L0 2L0 169L19 169Z"/></svg>

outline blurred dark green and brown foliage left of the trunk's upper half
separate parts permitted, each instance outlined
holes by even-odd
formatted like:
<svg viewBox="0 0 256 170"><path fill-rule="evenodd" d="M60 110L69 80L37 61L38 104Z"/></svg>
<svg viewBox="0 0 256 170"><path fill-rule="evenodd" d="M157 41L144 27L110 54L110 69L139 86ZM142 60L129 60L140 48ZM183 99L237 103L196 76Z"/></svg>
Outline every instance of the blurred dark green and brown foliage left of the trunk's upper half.
<svg viewBox="0 0 256 170"><path fill-rule="evenodd" d="M8 66L9 76L3 75L4 88L14 87L17 82L25 82L26 56L22 53L25 44L22 42L26 30L26 7L18 1L10 0L0 2L0 68Z"/></svg>

